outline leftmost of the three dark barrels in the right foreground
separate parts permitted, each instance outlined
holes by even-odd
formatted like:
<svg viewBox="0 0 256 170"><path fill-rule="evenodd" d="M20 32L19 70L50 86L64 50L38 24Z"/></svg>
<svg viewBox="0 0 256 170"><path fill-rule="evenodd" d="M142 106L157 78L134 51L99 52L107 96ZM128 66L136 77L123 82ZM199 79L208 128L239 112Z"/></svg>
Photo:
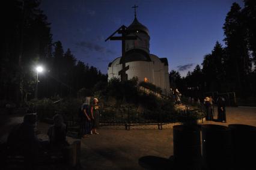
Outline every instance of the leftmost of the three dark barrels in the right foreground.
<svg viewBox="0 0 256 170"><path fill-rule="evenodd" d="M173 127L174 162L179 169L201 169L200 127Z"/></svg>

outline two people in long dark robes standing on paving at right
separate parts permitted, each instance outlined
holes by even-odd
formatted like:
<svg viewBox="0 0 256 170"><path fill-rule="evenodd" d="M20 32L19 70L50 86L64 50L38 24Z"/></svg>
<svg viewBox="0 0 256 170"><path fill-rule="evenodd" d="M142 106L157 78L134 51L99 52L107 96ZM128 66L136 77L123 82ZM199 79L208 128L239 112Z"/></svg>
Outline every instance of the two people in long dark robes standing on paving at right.
<svg viewBox="0 0 256 170"><path fill-rule="evenodd" d="M215 101L212 96L206 97L204 99L204 106L206 106L206 120L212 121L214 116L214 106ZM225 99L222 96L218 96L216 100L216 105L218 106L218 118L219 122L226 122L226 109L225 109Z"/></svg>

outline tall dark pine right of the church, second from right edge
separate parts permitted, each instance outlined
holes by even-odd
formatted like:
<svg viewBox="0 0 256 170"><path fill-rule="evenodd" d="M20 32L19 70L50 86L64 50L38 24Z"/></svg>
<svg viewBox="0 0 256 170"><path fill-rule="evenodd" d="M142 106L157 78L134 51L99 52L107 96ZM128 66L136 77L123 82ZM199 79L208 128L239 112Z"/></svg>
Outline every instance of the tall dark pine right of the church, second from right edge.
<svg viewBox="0 0 256 170"><path fill-rule="evenodd" d="M236 90L242 94L246 88L246 76L250 71L251 62L246 44L246 30L239 4L233 3L224 23L224 34L227 57L225 70L227 79L233 82Z"/></svg>

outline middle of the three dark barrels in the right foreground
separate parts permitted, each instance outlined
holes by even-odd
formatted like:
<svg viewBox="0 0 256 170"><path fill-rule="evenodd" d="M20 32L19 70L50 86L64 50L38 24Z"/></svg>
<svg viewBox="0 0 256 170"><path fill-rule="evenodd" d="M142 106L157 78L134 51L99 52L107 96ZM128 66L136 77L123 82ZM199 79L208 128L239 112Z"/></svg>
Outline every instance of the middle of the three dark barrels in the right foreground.
<svg viewBox="0 0 256 170"><path fill-rule="evenodd" d="M232 169L231 130L216 124L206 124L201 129L205 168Z"/></svg>

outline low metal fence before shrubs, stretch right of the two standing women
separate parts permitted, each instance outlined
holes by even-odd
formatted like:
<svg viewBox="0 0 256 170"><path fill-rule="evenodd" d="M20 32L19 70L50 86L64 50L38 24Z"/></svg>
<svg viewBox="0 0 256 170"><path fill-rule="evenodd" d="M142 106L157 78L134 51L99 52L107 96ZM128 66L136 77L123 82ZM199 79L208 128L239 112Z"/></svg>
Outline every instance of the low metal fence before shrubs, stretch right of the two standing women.
<svg viewBox="0 0 256 170"><path fill-rule="evenodd" d="M131 126L157 125L162 129L163 124L185 122L189 120L201 120L205 117L203 109L187 107L175 112L133 112L129 109L123 112L100 112L101 126L124 126L130 130Z"/></svg>

